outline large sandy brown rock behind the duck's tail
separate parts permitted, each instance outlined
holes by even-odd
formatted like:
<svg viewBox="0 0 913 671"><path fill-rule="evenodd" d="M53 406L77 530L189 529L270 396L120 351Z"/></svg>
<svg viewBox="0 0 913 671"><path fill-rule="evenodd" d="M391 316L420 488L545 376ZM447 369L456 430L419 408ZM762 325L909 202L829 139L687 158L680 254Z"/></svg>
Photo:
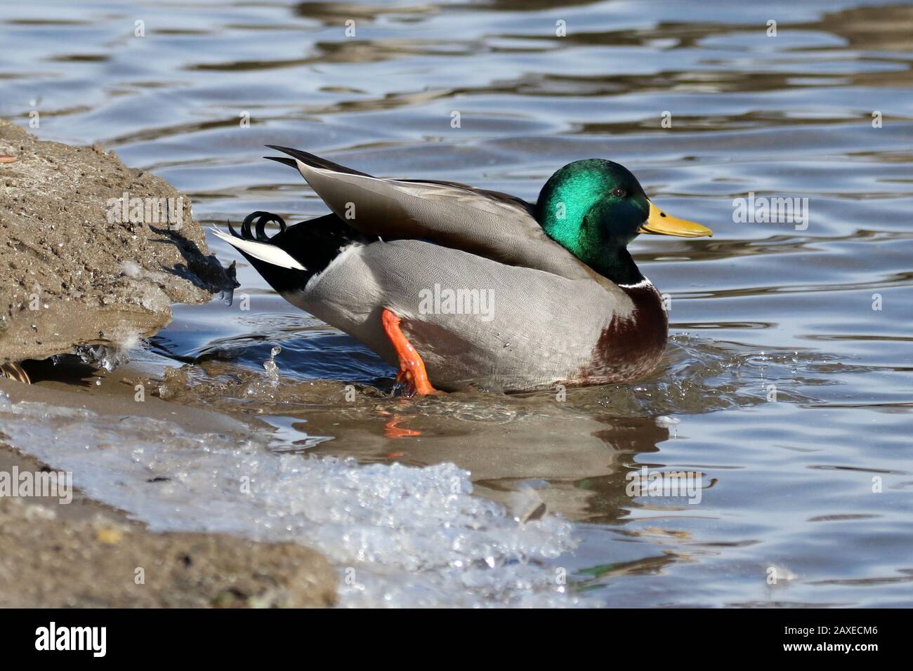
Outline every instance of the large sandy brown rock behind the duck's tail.
<svg viewBox="0 0 913 671"><path fill-rule="evenodd" d="M3 120L0 156L0 362L118 347L236 286L155 175Z"/></svg>

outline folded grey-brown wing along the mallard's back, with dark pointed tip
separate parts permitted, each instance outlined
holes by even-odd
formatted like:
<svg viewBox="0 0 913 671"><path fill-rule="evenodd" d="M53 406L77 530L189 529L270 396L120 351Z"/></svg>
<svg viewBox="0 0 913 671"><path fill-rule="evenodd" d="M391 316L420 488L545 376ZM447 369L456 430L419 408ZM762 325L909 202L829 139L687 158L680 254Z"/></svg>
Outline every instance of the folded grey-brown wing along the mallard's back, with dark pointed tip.
<svg viewBox="0 0 913 671"><path fill-rule="evenodd" d="M380 179L307 152L272 148L293 156L282 163L294 163L330 209L362 233L428 240L509 266L611 284L546 236L519 198L459 183Z"/></svg>

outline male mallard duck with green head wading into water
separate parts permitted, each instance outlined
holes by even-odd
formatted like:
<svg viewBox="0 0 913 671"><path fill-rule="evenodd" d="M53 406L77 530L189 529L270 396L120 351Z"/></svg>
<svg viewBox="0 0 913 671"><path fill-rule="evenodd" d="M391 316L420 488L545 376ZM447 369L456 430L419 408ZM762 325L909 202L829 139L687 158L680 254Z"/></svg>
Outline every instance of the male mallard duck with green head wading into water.
<svg viewBox="0 0 913 671"><path fill-rule="evenodd" d="M214 229L280 295L398 368L408 394L621 383L666 347L659 292L627 246L640 233L710 236L666 215L623 165L575 161L536 204L436 180L373 177L268 145L332 214ZM280 231L267 236L275 221ZM251 232L251 225L254 232Z"/></svg>

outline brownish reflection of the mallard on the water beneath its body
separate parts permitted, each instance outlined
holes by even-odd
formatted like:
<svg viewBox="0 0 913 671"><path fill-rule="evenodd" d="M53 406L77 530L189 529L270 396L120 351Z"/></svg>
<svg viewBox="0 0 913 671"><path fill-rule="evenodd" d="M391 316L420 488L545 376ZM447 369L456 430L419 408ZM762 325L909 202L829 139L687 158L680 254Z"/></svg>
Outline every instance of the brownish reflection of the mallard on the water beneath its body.
<svg viewBox="0 0 913 671"><path fill-rule="evenodd" d="M523 403L488 408L483 417L473 416L471 404L435 405L388 407L344 422L338 414L311 415L301 429L336 436L310 454L413 466L452 462L472 474L478 495L511 509L517 493L531 489L550 513L604 523L632 506L625 477L638 467L635 456L656 452L669 438L668 428L648 417L533 411Z"/></svg>

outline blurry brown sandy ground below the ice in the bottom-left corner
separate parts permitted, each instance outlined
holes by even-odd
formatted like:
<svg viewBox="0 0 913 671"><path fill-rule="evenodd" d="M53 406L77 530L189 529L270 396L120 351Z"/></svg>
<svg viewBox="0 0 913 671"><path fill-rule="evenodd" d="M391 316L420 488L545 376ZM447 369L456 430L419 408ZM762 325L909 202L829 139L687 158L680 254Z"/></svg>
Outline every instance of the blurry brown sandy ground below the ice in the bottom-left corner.
<svg viewBox="0 0 913 671"><path fill-rule="evenodd" d="M0 547L2 608L323 607L339 580L295 543L64 519L18 498L0 498Z"/></svg>

